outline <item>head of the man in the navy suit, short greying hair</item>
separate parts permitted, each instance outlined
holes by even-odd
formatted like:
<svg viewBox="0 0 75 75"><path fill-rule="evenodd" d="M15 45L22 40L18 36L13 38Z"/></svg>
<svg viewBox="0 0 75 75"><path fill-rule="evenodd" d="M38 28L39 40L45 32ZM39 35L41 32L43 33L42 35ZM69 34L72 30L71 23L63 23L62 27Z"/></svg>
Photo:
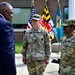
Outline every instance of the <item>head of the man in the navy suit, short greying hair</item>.
<svg viewBox="0 0 75 75"><path fill-rule="evenodd" d="M0 14L2 14L7 20L12 17L13 7L7 2L0 3Z"/></svg>

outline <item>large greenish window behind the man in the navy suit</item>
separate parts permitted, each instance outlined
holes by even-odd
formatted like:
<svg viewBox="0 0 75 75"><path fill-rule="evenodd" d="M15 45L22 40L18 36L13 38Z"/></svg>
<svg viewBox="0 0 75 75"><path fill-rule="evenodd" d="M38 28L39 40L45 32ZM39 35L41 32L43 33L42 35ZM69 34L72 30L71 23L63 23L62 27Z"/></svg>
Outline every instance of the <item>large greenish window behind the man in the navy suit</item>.
<svg viewBox="0 0 75 75"><path fill-rule="evenodd" d="M14 28L26 28L30 18L31 8L14 8L11 20Z"/></svg>

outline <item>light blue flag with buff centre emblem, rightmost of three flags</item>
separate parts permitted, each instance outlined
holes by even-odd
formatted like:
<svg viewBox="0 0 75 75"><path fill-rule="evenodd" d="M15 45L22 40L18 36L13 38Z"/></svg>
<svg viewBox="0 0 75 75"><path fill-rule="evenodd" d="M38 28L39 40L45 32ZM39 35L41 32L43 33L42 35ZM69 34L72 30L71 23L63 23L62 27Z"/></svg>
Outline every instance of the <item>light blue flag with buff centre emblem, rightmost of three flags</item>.
<svg viewBox="0 0 75 75"><path fill-rule="evenodd" d="M56 15L54 18L54 34L58 42L61 41L61 39L65 36L63 32L63 26L62 26L62 15L60 10L60 4L58 2L58 8L56 11Z"/></svg>

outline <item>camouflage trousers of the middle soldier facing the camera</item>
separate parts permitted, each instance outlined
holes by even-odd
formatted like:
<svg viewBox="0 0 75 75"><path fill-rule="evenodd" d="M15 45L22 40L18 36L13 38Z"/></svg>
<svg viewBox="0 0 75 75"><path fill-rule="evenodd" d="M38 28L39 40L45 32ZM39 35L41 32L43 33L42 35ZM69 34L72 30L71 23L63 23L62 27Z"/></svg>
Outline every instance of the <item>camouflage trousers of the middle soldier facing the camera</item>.
<svg viewBox="0 0 75 75"><path fill-rule="evenodd" d="M43 72L46 68L44 60L27 59L26 64L29 75L44 75Z"/></svg>

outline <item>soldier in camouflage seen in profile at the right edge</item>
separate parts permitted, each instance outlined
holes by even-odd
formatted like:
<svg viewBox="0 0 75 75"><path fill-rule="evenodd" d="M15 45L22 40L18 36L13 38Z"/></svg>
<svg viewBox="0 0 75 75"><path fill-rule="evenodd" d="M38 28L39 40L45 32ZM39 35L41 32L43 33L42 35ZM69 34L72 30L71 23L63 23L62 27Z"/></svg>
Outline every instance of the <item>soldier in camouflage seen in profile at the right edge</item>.
<svg viewBox="0 0 75 75"><path fill-rule="evenodd" d="M67 20L62 25L66 36L61 42L60 75L75 75L75 20Z"/></svg>

